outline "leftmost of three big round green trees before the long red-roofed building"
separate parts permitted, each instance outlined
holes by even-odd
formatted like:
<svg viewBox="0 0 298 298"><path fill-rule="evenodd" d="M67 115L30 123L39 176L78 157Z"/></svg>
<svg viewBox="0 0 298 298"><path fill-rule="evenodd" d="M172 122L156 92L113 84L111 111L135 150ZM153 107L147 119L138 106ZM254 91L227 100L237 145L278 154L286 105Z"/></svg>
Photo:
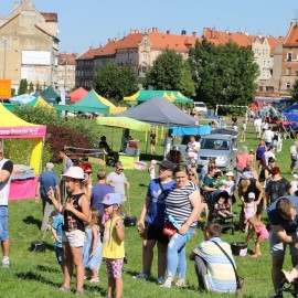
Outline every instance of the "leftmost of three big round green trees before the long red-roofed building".
<svg viewBox="0 0 298 298"><path fill-rule="evenodd" d="M138 91L138 77L131 65L118 66L110 61L98 68L92 86L104 97L119 102L124 96Z"/></svg>

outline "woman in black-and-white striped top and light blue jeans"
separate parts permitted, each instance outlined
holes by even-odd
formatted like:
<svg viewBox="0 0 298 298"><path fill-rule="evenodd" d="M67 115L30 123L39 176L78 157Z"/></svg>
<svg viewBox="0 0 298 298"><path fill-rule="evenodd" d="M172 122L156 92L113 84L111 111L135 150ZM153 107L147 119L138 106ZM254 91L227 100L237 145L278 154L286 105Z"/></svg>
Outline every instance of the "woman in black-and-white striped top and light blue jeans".
<svg viewBox="0 0 298 298"><path fill-rule="evenodd" d="M185 243L195 231L196 219L201 209L201 195L195 183L189 181L188 167L185 164L177 166L173 175L177 184L166 199L166 217L173 216L180 228L170 237L168 244L168 278L162 285L166 288L172 286L177 269L179 269L179 279L175 285L178 287L185 286Z"/></svg>

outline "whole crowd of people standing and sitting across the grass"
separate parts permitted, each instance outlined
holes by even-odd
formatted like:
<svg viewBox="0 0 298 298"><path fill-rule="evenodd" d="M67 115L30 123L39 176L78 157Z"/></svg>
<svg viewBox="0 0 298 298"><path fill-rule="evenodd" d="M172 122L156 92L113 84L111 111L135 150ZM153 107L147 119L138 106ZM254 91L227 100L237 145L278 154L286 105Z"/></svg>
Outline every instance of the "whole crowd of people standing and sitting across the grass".
<svg viewBox="0 0 298 298"><path fill-rule="evenodd" d="M234 117L234 126L237 119ZM259 118L254 119L257 148L248 150L242 146L236 153L235 173L224 173L216 160L199 168L196 162L200 142L191 136L187 146L189 160L185 164L173 164L164 159L160 164L151 160L148 168L148 190L137 221L142 237L142 264L135 278L152 278L161 287L187 285L188 259L193 262L200 289L216 292L235 292L237 279L231 246L221 238L222 223L234 217L236 196L242 204L240 230L245 243L255 237L253 258L262 257L262 245L269 240L272 278L275 290L283 278L291 283L298 276L296 247L298 238L298 142L290 147L290 172L292 181L285 179L276 158L275 136L272 127ZM263 132L262 132L263 130ZM246 141L246 125L242 126ZM164 140L166 151L174 137L169 129ZM104 142L105 139L102 139ZM156 148L156 135L150 136L151 152ZM104 146L104 145L103 145ZM61 179L54 173L54 164L39 177L35 202L42 202L41 231L52 231L57 263L64 274L61 291L71 291L73 269L76 270L76 294L84 294L84 279L99 283L98 272L105 259L108 273L106 297L121 297L124 283L121 270L125 257L125 226L121 205L130 188L120 162L115 171L97 171L93 184L93 169L88 163L73 166L64 150ZM10 267L8 234L8 192L12 161L4 159L0 142L0 241L2 267ZM157 173L157 174L156 174ZM267 210L270 231L263 220ZM187 256L185 246L194 234L199 222L205 216L204 241L193 247ZM49 225L49 219L52 219ZM286 246L290 247L294 268L283 270ZM153 249L158 251L157 274L152 274Z"/></svg>

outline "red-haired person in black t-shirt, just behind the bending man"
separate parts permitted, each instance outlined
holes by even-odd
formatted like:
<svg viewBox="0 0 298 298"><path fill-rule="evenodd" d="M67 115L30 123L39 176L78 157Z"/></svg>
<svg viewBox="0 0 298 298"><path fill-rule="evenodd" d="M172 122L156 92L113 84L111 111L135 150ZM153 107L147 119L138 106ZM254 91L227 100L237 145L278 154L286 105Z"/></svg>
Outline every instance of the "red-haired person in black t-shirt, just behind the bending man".
<svg viewBox="0 0 298 298"><path fill-rule="evenodd" d="M268 181L268 183L266 183L266 203L270 205L278 198L288 194L292 195L289 181L280 175L280 169L278 167L274 167L272 169L272 179Z"/></svg>

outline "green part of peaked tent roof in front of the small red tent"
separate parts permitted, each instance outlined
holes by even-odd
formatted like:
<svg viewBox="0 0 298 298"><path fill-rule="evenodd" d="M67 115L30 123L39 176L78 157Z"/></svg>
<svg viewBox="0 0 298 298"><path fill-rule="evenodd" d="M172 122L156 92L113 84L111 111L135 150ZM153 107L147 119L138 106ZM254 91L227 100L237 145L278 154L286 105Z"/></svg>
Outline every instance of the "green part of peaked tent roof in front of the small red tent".
<svg viewBox="0 0 298 298"><path fill-rule="evenodd" d="M94 89L73 105L55 105L54 108L56 110L109 114L109 107L100 102Z"/></svg>

